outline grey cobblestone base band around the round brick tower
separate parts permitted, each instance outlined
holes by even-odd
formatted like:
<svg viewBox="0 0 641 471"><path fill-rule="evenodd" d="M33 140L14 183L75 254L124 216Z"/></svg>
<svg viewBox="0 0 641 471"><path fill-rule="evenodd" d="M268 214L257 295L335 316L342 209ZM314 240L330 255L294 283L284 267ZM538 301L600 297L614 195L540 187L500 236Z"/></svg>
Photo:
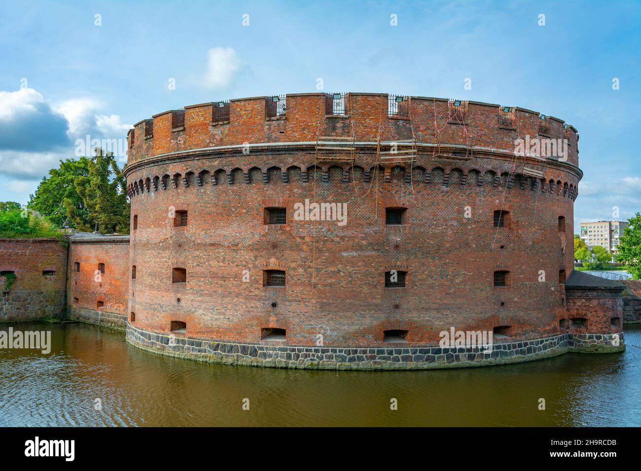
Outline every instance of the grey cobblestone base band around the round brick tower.
<svg viewBox="0 0 641 471"><path fill-rule="evenodd" d="M607 349L607 337L563 334L524 342L495 343L494 351L483 353L479 349L464 347L294 347L217 342L183 336L172 336L170 339L167 334L138 329L131 324L127 324L126 333L126 340L131 345L167 356L211 363L315 370L426 370L501 365L548 358L569 351L583 351L584 347L596 347L598 342L603 343L600 350L603 352L625 349L622 335L619 347L613 349Z"/></svg>

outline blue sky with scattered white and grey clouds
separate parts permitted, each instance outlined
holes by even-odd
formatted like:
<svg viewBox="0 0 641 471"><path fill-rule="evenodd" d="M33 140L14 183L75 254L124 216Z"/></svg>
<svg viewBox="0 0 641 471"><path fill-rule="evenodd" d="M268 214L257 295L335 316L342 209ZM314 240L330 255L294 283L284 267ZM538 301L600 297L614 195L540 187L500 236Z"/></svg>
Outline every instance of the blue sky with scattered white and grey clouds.
<svg viewBox="0 0 641 471"><path fill-rule="evenodd" d="M638 1L0 0L0 201L26 203L76 138L125 138L155 113L313 92L322 78L327 92L455 97L564 119L580 135L576 227L612 219L613 206L627 219L641 211L640 72Z"/></svg>

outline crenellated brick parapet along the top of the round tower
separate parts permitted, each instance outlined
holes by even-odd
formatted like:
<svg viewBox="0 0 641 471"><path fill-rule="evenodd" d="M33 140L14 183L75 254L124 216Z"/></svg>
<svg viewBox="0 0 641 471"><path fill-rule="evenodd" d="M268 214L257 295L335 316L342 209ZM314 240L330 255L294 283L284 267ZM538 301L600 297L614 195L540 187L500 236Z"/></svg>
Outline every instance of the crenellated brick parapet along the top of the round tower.
<svg viewBox="0 0 641 471"><path fill-rule="evenodd" d="M513 106L368 93L253 97L159 113L129 131L128 163L176 153L306 147L319 136L351 138L357 156L381 142L409 140L425 155L510 156L518 139L553 140L567 145L563 161L578 166L578 133L563 120Z"/></svg>

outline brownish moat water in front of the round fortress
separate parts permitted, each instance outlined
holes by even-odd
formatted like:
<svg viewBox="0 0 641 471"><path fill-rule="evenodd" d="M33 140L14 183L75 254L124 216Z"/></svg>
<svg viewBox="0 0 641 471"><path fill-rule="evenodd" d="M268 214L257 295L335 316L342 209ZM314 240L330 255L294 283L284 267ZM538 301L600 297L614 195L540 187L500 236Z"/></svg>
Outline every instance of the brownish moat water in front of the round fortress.
<svg viewBox="0 0 641 471"><path fill-rule="evenodd" d="M51 352L0 349L0 426L641 426L641 326L622 353L416 372L214 365L86 324L11 327L51 330Z"/></svg>

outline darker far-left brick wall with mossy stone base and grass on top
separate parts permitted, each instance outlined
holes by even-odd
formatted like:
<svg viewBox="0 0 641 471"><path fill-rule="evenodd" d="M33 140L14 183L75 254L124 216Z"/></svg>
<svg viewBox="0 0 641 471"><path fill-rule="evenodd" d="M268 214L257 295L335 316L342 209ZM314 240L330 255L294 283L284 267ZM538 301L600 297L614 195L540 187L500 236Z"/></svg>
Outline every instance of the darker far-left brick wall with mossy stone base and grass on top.
<svg viewBox="0 0 641 471"><path fill-rule="evenodd" d="M67 246L49 238L0 239L0 272L15 272L6 290L0 276L0 322L58 318L65 311Z"/></svg>

